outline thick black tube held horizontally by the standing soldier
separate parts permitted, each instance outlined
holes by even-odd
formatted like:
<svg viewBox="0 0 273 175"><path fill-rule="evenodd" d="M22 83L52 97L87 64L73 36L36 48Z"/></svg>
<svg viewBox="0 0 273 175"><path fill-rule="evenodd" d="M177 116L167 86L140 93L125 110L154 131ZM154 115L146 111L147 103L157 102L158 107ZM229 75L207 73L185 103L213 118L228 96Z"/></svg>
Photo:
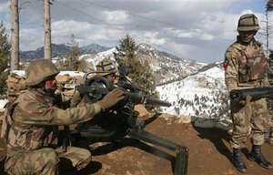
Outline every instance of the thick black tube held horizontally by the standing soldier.
<svg viewBox="0 0 273 175"><path fill-rule="evenodd" d="M232 101L238 102L244 100L247 96L251 98L268 98L273 95L273 88L247 88L247 89L233 89L229 93L229 98Z"/></svg>

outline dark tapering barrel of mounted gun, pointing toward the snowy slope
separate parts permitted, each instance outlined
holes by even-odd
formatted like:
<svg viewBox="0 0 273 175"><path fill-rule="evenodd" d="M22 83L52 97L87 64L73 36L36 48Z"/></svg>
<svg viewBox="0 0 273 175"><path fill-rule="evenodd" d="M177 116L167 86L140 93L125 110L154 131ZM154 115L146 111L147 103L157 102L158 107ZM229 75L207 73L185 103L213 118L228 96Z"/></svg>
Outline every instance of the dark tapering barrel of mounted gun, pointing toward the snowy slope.
<svg viewBox="0 0 273 175"><path fill-rule="evenodd" d="M171 104L167 101L163 101L157 98L150 98L145 95L140 95L132 92L125 92L125 101L131 101L134 104L145 104L145 105L153 105L153 106L161 106L161 107L170 107Z"/></svg>

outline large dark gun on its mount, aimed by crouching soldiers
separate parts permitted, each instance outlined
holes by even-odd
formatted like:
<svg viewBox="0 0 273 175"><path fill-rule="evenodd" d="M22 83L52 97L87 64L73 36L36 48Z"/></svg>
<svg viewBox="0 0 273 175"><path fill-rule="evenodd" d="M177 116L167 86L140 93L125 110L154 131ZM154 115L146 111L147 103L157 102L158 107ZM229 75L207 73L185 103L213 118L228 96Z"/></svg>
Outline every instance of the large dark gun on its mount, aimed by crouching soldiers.
<svg viewBox="0 0 273 175"><path fill-rule="evenodd" d="M157 135L144 130L146 120L137 118L138 112L134 109L136 104L149 104L153 106L170 107L171 104L157 98L151 98L147 95L135 93L134 91L143 91L136 88L135 85L129 83L126 77L120 77L117 86L109 82L106 77L95 76L91 78L88 74L84 76L84 83L76 86L76 90L84 94L90 103L103 98L113 88L124 88L125 98L118 102L114 107L101 112L99 116L91 119L91 121L80 128L80 135L83 138L109 138L109 139L136 139L152 143L154 145L170 149L176 153L176 162L174 168L175 175L187 174L188 149L185 146L161 138ZM96 120L97 118L97 120ZM103 119L103 122L99 120Z"/></svg>

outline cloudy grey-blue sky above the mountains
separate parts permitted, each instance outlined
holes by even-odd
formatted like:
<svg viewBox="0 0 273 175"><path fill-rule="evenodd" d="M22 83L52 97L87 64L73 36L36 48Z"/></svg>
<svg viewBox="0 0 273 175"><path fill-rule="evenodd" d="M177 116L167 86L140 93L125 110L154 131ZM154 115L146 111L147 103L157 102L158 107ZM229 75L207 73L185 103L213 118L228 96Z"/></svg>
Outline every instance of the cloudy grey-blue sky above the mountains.
<svg viewBox="0 0 273 175"><path fill-rule="evenodd" d="M129 34L178 57L223 61L237 36L240 15L254 13L265 26L267 0L52 0L52 43L118 46ZM10 0L0 1L0 19L10 36ZM43 0L19 0L20 50L44 45ZM272 20L271 13L268 15ZM263 27L265 28L265 27ZM259 30L262 32L262 30ZM256 36L266 44L266 38ZM271 42L271 41L269 41ZM264 46L266 48L266 46Z"/></svg>

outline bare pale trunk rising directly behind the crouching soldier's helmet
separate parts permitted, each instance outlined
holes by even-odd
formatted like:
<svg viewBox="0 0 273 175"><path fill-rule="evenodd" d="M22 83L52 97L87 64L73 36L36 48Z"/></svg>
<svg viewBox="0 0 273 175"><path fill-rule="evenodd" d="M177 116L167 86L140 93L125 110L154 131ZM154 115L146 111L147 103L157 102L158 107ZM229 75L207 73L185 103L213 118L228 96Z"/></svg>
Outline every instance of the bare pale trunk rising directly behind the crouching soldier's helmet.
<svg viewBox="0 0 273 175"><path fill-rule="evenodd" d="M50 0L44 0L44 57L51 60L51 21L50 21Z"/></svg>

